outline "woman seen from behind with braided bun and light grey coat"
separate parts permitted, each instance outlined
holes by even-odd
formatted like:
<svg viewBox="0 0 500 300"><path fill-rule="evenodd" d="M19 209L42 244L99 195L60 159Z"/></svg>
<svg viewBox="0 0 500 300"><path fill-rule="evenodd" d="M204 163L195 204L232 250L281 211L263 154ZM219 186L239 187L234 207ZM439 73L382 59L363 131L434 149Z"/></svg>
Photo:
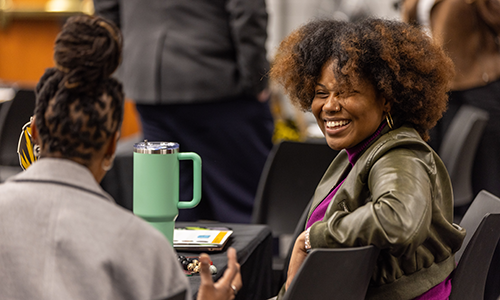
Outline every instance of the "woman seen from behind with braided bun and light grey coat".
<svg viewBox="0 0 500 300"><path fill-rule="evenodd" d="M186 299L188 280L167 239L114 203L99 182L113 163L123 117L121 33L91 16L68 19L55 68L36 87L32 135L40 159L0 184L3 299ZM233 299L234 249L213 283L202 255L198 299Z"/></svg>

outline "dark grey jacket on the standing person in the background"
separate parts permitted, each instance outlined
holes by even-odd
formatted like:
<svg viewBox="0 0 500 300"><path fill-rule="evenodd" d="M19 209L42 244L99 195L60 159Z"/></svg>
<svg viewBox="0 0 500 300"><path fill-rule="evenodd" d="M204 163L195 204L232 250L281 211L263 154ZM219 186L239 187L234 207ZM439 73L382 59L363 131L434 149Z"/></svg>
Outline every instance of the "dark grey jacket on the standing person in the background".
<svg viewBox="0 0 500 300"><path fill-rule="evenodd" d="M140 104L208 102L266 86L265 0L94 0L124 36L118 77Z"/></svg>

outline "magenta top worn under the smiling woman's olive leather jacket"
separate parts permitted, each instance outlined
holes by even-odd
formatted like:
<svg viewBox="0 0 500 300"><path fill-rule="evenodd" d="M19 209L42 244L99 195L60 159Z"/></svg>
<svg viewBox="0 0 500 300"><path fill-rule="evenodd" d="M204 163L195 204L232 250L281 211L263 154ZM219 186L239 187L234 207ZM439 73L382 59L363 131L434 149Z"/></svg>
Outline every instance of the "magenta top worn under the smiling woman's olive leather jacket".
<svg viewBox="0 0 500 300"><path fill-rule="evenodd" d="M379 129L377 129L377 131L372 136L366 139L365 142L362 142L352 148L346 149L347 157L349 159L351 167L354 166L354 164L358 160L363 150L365 150L366 147L380 135L382 129L384 129L385 127L385 124L386 124L385 122L382 123ZM344 180L345 177L330 192L330 194L328 194L328 196L326 196L326 198L314 209L313 213L311 214L311 217L307 221L306 229L311 227L311 225L316 223L317 221L323 220L328 205L332 201L333 196L335 195L335 193L337 193L337 190L340 188L342 183L344 183ZM446 300L449 298L450 293L451 293L451 278L448 276L443 282L439 283L435 287L431 288L430 290L418 296L417 298L414 298L413 300Z"/></svg>

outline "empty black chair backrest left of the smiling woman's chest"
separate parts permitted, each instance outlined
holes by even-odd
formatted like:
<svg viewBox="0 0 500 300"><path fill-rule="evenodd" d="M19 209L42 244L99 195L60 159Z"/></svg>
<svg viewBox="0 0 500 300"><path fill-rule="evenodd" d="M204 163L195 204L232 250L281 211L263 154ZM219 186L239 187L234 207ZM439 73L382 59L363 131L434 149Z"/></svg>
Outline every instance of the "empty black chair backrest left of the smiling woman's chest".
<svg viewBox="0 0 500 300"><path fill-rule="evenodd" d="M268 225L275 236L292 234L337 153L326 143L275 144L260 177L252 223Z"/></svg>

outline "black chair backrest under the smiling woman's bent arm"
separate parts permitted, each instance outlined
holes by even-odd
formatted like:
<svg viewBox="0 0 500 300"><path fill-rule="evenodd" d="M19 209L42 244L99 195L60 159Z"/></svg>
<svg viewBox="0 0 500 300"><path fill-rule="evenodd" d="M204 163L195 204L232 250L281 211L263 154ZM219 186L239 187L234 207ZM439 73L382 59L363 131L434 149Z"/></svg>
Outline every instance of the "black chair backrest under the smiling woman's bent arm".
<svg viewBox="0 0 500 300"><path fill-rule="evenodd" d="M284 300L365 299L379 249L374 246L313 249Z"/></svg>

